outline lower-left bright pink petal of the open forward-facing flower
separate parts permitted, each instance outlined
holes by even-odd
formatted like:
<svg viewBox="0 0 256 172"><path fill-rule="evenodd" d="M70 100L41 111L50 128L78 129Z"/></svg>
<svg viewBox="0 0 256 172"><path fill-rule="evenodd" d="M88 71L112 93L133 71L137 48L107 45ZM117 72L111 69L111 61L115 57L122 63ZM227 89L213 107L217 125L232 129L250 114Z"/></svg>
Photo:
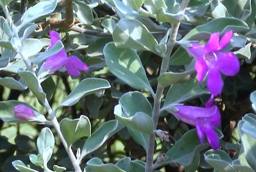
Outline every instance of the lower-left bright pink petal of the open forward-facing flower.
<svg viewBox="0 0 256 172"><path fill-rule="evenodd" d="M196 78L199 82L203 81L205 75L208 72L208 66L207 63L205 62L204 58L199 58L198 60L196 60L196 64L195 64L195 68L196 68Z"/></svg>

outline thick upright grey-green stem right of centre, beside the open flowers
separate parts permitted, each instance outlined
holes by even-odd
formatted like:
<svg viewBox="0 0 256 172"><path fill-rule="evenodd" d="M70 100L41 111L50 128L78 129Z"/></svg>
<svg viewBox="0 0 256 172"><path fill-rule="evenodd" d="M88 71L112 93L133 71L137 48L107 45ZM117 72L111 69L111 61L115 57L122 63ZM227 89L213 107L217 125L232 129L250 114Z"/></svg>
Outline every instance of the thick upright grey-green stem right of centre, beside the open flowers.
<svg viewBox="0 0 256 172"><path fill-rule="evenodd" d="M187 5L189 3L189 0L183 0L180 6L180 12L184 12ZM164 72L167 72L169 59L172 53L172 50L174 49L176 38L177 38L177 32L179 31L180 22L174 24L172 26L172 32L170 35L170 39L167 42L167 52L163 54L163 60L160 68L160 75ZM158 119L159 119L159 111L160 111L160 105L162 100L162 94L164 91L164 87L158 83L158 86L156 87L156 94L154 98L154 106L153 106L153 112L152 112L152 120L154 121L154 130L156 129L158 125ZM149 136L148 139L148 149L147 149L147 158L146 158L146 172L152 172L154 170L153 165L153 158L154 158L154 148L155 148L155 133L152 133Z"/></svg>

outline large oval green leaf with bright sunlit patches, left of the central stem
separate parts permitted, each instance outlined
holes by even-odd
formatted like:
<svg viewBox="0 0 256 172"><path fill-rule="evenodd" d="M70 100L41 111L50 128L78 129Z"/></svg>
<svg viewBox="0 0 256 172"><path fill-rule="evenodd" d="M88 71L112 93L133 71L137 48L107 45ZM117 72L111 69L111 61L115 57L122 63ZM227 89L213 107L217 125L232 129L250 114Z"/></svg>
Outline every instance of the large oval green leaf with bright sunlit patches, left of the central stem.
<svg viewBox="0 0 256 172"><path fill-rule="evenodd" d="M108 43L104 48L106 64L110 72L135 89L147 89L154 93L138 54L131 48L117 48Z"/></svg>

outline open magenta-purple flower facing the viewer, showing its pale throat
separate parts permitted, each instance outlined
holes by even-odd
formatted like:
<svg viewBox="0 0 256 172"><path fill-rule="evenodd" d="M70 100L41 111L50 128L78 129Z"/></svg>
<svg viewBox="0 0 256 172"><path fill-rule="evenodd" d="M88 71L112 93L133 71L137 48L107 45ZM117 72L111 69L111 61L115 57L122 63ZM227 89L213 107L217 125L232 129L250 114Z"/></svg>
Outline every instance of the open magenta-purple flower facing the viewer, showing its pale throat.
<svg viewBox="0 0 256 172"><path fill-rule="evenodd" d="M227 76L236 75L240 69L238 58L233 52L221 52L232 39L233 32L226 32L219 41L219 33L212 33L205 44L191 43L187 51L196 58L196 78L203 81L208 72L207 87L211 94L221 94L224 82L221 74Z"/></svg>

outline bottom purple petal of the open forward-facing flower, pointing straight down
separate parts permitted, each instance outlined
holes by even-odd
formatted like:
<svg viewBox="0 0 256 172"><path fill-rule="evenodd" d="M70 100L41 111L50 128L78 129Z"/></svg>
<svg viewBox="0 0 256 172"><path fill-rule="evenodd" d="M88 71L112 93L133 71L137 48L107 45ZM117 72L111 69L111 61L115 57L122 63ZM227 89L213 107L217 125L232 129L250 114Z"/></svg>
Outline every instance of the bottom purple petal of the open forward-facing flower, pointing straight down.
<svg viewBox="0 0 256 172"><path fill-rule="evenodd" d="M216 68L209 69L207 87L211 94L214 96L221 94L224 83L221 74Z"/></svg>

